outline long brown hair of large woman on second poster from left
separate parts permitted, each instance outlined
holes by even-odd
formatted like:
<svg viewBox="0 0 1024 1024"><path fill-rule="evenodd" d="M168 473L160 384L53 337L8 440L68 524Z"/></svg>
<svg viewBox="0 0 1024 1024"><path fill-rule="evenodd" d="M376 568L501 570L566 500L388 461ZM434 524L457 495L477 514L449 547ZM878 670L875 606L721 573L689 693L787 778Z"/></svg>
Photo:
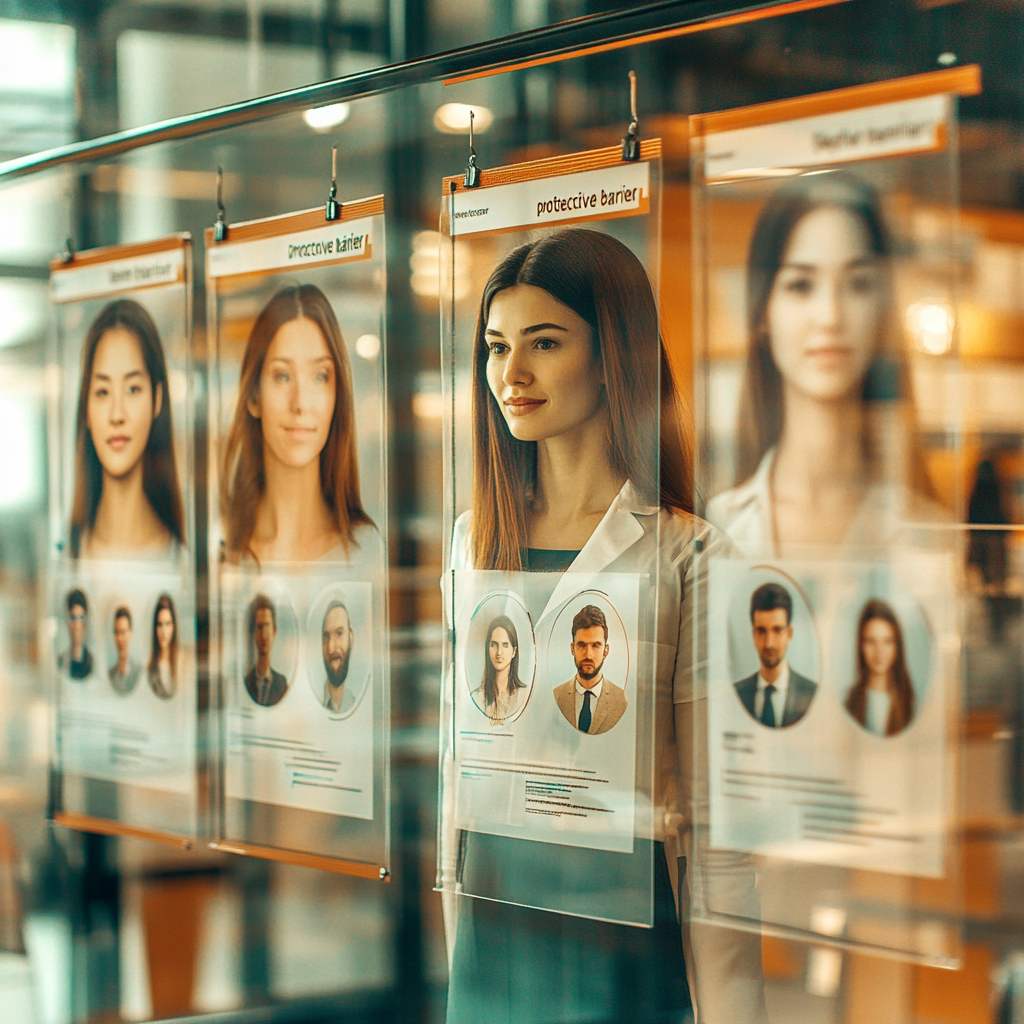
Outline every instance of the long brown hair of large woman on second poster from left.
<svg viewBox="0 0 1024 1024"><path fill-rule="evenodd" d="M331 512L345 550L355 527L373 520L359 497L359 467L352 409L352 371L338 318L327 296L315 285L289 285L275 292L253 324L242 357L239 399L224 446L220 511L224 523L224 546L228 557L256 557L252 536L256 511L266 487L263 471L263 432L260 421L249 412L259 397L259 381L266 353L278 331L293 319L312 321L324 335L334 364L334 417L319 456L321 493Z"/></svg>

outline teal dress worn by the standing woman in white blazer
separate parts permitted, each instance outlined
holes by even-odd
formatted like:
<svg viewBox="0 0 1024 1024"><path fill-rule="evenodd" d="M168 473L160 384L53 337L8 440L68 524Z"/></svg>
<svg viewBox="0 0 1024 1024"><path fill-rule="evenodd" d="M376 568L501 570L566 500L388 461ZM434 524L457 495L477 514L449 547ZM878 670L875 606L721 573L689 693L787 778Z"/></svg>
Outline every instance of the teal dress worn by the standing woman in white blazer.
<svg viewBox="0 0 1024 1024"><path fill-rule="evenodd" d="M575 551L525 552L528 571L564 572ZM660 843L632 855L462 834L466 892L449 981L447 1024L685 1024L692 1020L679 920ZM653 927L501 900L535 894L575 913L635 912L653 860ZM682 872L680 872L682 877ZM550 894L549 897L544 893Z"/></svg>

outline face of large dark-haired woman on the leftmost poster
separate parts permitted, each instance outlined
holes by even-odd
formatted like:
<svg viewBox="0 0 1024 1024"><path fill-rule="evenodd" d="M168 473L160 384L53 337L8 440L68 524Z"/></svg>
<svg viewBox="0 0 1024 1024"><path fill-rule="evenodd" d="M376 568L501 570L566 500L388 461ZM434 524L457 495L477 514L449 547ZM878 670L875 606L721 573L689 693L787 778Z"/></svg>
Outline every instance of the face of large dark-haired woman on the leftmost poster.
<svg viewBox="0 0 1024 1024"><path fill-rule="evenodd" d="M86 425L108 475L122 478L139 465L162 400L138 338L123 327L104 331L92 359Z"/></svg>

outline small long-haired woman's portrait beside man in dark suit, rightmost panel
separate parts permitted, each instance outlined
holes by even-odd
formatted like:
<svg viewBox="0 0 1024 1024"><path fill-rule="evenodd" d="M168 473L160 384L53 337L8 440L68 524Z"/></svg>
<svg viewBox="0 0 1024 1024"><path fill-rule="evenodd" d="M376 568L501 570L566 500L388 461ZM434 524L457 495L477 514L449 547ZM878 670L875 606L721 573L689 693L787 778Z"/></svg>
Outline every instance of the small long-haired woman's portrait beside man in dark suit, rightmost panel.
<svg viewBox="0 0 1024 1024"><path fill-rule="evenodd" d="M913 720L903 630L892 607L877 598L864 605L857 622L857 679L845 706L876 736L895 736Z"/></svg>

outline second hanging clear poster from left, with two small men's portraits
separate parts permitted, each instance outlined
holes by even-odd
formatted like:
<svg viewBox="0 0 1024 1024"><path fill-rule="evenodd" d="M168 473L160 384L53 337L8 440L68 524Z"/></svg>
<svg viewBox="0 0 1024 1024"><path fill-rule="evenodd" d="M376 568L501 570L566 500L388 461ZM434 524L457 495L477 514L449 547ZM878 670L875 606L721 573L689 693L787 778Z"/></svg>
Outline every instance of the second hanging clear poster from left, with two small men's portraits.
<svg viewBox="0 0 1024 1024"><path fill-rule="evenodd" d="M209 322L215 339L209 538L215 567L211 651L220 721L217 845L382 879L390 864L383 209L377 198L345 204L335 222L326 222L323 211L296 214L231 225L226 243L208 239L213 250L208 255ZM330 346L314 345L307 353L301 346L309 346L308 338L289 352L280 344L282 328L297 322L294 292L287 302L271 303L283 290L296 287L303 289L306 318L329 319L326 305L337 319L338 359L347 373L332 357L333 406L317 406L315 389L323 381L316 374L323 368L309 361ZM279 310L279 319L272 332L261 333L257 323L268 307ZM331 330L321 326L312 337L323 342ZM255 346L253 355L266 353L261 375L254 375L249 389L259 404L247 403L240 393L250 346ZM278 355L294 361L272 361ZM267 368L268 357L276 371ZM285 374L275 381L272 375L282 369ZM239 457L251 443L242 435L232 441L231 424L238 417L261 447L268 443L264 431L274 429L271 417L276 415L268 388L275 383L291 387L289 372L297 374L295 387L309 389L299 391L298 406L306 410L300 415L310 424L318 416L325 421L317 429L326 439L317 439L318 452L311 456L321 463L322 498L350 508L360 500L370 521L355 525L347 552L339 543L318 559L259 562L253 552L230 547L232 537L244 537L237 518L245 501L239 499ZM349 425L342 419L346 412ZM287 418L294 415L287 412L281 425L287 428L292 422ZM343 485L343 473L329 477L323 468L331 451L339 457L351 433L354 484L339 495L333 488ZM264 490L261 484L249 501L262 502ZM269 671L261 682L258 629L265 629L263 620L270 624Z"/></svg>

